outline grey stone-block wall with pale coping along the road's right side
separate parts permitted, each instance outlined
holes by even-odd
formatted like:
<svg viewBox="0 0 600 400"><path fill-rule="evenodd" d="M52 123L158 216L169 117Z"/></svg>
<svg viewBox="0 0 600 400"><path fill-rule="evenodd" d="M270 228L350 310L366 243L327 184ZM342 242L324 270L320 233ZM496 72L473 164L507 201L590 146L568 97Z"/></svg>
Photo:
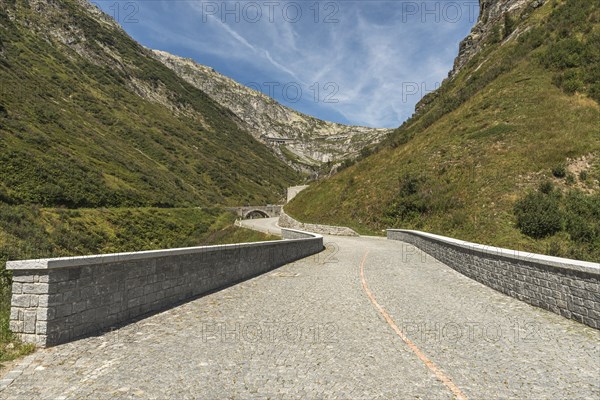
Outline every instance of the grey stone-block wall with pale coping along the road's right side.
<svg viewBox="0 0 600 400"><path fill-rule="evenodd" d="M600 329L600 264L389 229L461 274L499 292Z"/></svg>

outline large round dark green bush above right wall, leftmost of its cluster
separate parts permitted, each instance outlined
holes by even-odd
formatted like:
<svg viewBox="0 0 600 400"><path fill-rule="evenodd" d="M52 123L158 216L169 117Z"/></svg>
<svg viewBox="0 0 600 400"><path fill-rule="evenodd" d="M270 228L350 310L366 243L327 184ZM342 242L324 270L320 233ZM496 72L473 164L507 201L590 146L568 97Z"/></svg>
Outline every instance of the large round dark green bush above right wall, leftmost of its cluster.
<svg viewBox="0 0 600 400"><path fill-rule="evenodd" d="M540 239L562 229L559 197L541 192L529 193L515 205L517 227L523 234Z"/></svg>

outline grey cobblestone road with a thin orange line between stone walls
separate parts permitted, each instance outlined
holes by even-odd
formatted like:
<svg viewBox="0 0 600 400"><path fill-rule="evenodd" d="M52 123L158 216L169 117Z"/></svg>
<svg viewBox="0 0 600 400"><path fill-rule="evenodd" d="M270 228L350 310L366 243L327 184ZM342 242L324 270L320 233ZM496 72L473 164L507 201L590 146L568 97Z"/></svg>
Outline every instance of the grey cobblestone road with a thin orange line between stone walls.
<svg viewBox="0 0 600 400"><path fill-rule="evenodd" d="M40 350L0 398L453 398L419 354L469 399L600 398L600 332L400 242L326 242L317 256ZM361 263L414 348L368 297Z"/></svg>

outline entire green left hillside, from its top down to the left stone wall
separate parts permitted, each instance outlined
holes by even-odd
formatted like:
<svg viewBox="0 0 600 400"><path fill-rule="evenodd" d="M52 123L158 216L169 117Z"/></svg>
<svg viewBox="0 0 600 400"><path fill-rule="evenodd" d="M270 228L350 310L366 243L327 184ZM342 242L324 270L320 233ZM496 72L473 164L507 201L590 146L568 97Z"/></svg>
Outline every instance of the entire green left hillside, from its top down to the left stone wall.
<svg viewBox="0 0 600 400"><path fill-rule="evenodd" d="M2 1L0 362L31 350L8 330L7 259L271 239L215 206L298 179L87 1Z"/></svg>

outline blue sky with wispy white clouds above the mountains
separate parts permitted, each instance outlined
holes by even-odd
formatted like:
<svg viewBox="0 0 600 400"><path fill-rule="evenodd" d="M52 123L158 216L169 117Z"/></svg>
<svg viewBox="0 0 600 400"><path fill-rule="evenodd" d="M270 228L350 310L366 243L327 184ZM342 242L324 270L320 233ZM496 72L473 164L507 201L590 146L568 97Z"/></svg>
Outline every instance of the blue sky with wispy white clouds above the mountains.
<svg viewBox="0 0 600 400"><path fill-rule="evenodd" d="M447 76L477 0L94 1L144 46L328 121L397 127Z"/></svg>

